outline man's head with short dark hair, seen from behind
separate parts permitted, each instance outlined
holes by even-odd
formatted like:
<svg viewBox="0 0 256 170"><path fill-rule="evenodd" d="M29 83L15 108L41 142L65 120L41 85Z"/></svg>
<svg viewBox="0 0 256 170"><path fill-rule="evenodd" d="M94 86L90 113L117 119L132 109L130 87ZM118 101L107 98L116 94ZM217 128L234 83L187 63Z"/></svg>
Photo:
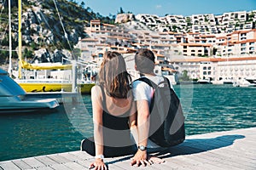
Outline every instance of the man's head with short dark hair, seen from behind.
<svg viewBox="0 0 256 170"><path fill-rule="evenodd" d="M154 53L147 49L138 49L135 54L135 64L140 73L152 73L154 71Z"/></svg>

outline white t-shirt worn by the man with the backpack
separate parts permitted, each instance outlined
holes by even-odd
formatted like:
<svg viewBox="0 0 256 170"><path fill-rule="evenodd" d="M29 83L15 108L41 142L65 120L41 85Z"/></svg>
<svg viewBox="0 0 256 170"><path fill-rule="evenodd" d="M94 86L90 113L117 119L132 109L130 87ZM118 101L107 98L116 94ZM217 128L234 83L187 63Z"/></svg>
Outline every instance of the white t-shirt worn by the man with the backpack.
<svg viewBox="0 0 256 170"><path fill-rule="evenodd" d="M164 77L161 77L161 76L154 76L154 77L147 77L147 78L150 81L154 82L155 84L159 84L160 82L164 81ZM173 89L171 82L170 82L170 85L171 85L171 88ZM132 82L132 94L133 94L135 101L145 99L148 101L148 106L149 106L151 103L153 94L154 94L154 89L151 88L146 82L134 81L134 82ZM154 144L154 142L152 142L150 139L148 139L147 147L148 148L160 148L159 145Z"/></svg>

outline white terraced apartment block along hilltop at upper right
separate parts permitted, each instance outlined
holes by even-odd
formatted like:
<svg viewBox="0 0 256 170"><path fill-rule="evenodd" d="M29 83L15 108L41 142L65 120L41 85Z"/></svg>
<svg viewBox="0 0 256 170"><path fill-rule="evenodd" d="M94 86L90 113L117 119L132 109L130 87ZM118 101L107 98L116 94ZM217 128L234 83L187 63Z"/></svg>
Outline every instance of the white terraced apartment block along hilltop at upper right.
<svg viewBox="0 0 256 170"><path fill-rule="evenodd" d="M136 19L153 31L199 32L201 34L231 33L255 28L256 10L236 11L220 15L193 14L166 15L137 14Z"/></svg>

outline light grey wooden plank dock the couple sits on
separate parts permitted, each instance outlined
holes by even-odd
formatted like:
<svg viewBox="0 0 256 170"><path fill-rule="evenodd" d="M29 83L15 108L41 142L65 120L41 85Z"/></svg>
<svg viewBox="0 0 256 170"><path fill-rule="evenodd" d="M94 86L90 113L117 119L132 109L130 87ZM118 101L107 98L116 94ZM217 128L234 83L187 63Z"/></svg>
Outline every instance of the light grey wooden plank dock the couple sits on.
<svg viewBox="0 0 256 170"><path fill-rule="evenodd" d="M187 137L183 144L156 155L163 164L131 167L131 156L107 158L108 169L256 169L256 127ZM83 151L0 161L0 169L81 170L94 161Z"/></svg>

